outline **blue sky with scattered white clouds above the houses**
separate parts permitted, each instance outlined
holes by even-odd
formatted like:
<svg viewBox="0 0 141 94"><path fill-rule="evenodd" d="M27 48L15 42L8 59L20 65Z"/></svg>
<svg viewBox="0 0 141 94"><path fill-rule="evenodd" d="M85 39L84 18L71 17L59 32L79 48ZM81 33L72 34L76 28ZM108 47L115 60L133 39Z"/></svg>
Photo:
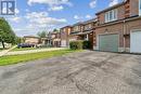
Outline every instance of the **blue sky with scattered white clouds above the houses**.
<svg viewBox="0 0 141 94"><path fill-rule="evenodd" d="M20 37L36 36L77 22L95 17L95 13L121 0L16 0L15 15L4 15Z"/></svg>

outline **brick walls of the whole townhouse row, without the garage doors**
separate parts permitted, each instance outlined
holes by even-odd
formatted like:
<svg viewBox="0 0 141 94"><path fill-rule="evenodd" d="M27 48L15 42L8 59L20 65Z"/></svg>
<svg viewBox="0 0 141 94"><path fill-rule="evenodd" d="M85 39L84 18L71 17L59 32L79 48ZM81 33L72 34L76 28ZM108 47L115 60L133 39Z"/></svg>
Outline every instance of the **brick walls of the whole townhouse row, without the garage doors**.
<svg viewBox="0 0 141 94"><path fill-rule="evenodd" d="M107 18L111 18L111 12L116 17L107 21ZM100 50L99 37L116 33L119 37L118 52L130 52L130 36L134 30L141 30L139 0L125 0L97 13L97 18L61 28L60 35L61 43L64 44L66 41L66 46L73 40L89 40L94 50Z"/></svg>

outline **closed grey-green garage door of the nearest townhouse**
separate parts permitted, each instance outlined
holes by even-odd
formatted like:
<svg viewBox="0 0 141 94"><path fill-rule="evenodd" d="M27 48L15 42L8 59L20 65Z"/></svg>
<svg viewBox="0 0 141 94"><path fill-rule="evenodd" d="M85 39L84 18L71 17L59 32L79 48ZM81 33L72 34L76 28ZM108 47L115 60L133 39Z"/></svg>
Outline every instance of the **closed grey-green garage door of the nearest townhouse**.
<svg viewBox="0 0 141 94"><path fill-rule="evenodd" d="M118 52L118 35L99 36L99 50L107 52Z"/></svg>

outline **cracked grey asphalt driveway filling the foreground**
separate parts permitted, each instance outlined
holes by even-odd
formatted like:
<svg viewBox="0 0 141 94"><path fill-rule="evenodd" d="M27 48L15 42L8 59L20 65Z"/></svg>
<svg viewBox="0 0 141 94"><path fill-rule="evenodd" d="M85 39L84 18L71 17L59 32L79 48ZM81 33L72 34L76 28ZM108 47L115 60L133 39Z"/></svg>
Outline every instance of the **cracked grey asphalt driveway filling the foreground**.
<svg viewBox="0 0 141 94"><path fill-rule="evenodd" d="M141 56L86 51L0 67L0 94L141 94Z"/></svg>

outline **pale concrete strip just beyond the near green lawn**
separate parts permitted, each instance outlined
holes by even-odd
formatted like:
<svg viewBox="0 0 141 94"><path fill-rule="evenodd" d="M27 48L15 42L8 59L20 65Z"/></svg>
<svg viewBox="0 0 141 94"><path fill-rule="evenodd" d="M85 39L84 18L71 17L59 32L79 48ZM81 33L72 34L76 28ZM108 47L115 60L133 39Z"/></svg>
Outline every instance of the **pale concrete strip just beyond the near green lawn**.
<svg viewBox="0 0 141 94"><path fill-rule="evenodd" d="M65 49L66 48L48 48L48 49L27 50L27 51L14 51L14 52L8 52L4 55L29 54L29 53L38 53L38 52L46 52L46 51L56 51L56 50L65 50Z"/></svg>

